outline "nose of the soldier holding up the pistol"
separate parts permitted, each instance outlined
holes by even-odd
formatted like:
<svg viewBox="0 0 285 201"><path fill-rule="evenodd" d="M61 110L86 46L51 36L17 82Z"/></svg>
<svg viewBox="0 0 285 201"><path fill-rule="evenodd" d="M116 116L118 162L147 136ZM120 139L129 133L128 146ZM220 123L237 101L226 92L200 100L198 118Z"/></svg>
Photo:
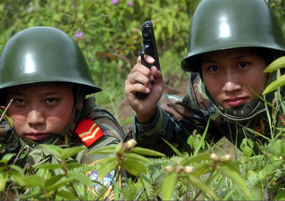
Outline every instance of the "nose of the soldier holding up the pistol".
<svg viewBox="0 0 285 201"><path fill-rule="evenodd" d="M222 88L225 92L234 92L242 89L241 81L239 80L239 76L235 75L232 72L228 72L224 76L224 86Z"/></svg>

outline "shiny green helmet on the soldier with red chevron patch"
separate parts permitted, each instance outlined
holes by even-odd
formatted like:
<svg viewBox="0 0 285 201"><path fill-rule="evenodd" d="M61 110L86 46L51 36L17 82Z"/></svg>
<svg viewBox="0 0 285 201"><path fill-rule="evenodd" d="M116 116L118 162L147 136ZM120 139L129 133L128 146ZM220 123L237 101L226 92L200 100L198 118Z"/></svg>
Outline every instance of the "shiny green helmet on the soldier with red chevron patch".
<svg viewBox="0 0 285 201"><path fill-rule="evenodd" d="M67 33L37 26L13 36L0 57L0 91L51 81L86 86L85 95L101 91L93 82L83 53Z"/></svg>

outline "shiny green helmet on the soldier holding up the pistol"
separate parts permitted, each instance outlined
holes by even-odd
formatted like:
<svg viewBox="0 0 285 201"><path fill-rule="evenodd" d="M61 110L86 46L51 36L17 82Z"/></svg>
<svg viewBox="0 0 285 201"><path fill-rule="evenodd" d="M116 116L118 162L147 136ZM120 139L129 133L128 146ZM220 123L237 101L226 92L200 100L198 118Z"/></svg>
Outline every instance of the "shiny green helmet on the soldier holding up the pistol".
<svg viewBox="0 0 285 201"><path fill-rule="evenodd" d="M265 0L202 0L190 25L185 71L199 72L196 57L227 48L285 51L284 35Z"/></svg>

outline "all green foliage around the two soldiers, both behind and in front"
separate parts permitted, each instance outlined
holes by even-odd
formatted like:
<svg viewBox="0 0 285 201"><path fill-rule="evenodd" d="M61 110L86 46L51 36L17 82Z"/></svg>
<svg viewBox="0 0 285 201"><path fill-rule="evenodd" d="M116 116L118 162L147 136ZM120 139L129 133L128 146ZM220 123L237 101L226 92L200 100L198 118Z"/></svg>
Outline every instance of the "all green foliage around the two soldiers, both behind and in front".
<svg viewBox="0 0 285 201"><path fill-rule="evenodd" d="M15 33L31 26L53 26L66 31L81 47L95 83L103 88L96 96L99 105L107 106L113 113L123 98L123 83L136 61L141 48L140 29L143 21L151 20L155 26L157 48L162 73L177 73L186 53L190 19L197 1L128 1L111 4L107 0L2 0L0 3L0 52L6 41ZM269 0L271 7L284 26L284 1ZM130 3L129 3L130 4ZM274 61L266 72L284 68L284 58ZM177 69L177 72L172 69ZM185 73L184 73L185 74ZM209 152L204 135L195 133L187 141L195 150L188 155L175 150L178 156L162 157L160 153L120 143L95 150L90 154L113 154L101 160L96 169L99 177L115 170L115 200L284 200L285 140L283 97L278 93L284 86L284 76L266 88L265 93L275 93L274 111L268 113L271 137L259 144L263 155L253 155L253 142L244 139L241 159ZM109 90L111 89L111 90ZM0 108L1 115L4 109ZM4 115L7 121L9 118ZM116 114L118 118L118 114ZM254 133L254 130L247 130ZM257 134L256 132L254 134ZM1 144L1 150L4 147ZM58 159L33 166L24 171L14 165L13 154L1 155L0 197L4 200L103 200L107 187L102 185L98 195L93 195L93 182L86 172L93 165L82 165L71 156L82 148L42 147ZM22 153L20 158L24 158ZM145 157L145 155L147 158ZM153 157L157 158L153 158ZM124 168L135 175L120 187L118 175ZM98 183L98 185L101 185ZM14 197L11 197L11 194Z"/></svg>

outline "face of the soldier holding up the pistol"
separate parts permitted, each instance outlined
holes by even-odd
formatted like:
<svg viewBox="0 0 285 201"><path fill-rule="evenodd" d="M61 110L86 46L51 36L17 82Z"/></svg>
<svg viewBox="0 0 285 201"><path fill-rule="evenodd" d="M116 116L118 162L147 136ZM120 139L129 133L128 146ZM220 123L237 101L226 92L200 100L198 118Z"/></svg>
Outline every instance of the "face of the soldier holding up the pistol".
<svg viewBox="0 0 285 201"><path fill-rule="evenodd" d="M266 61L251 48L202 54L202 77L209 94L223 108L248 103L261 94L267 81ZM248 86L247 86L248 85Z"/></svg>

